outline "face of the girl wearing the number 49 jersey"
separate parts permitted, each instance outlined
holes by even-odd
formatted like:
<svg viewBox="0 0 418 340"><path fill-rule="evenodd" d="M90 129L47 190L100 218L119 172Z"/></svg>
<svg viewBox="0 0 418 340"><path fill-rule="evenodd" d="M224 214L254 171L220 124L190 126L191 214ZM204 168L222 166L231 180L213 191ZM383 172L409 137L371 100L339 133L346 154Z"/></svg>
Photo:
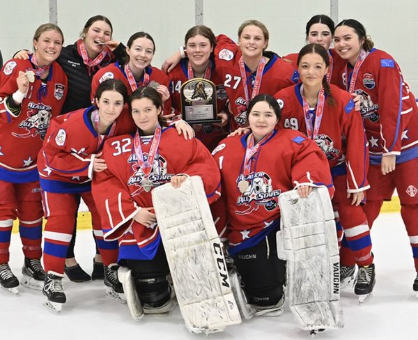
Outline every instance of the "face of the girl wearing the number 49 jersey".
<svg viewBox="0 0 418 340"><path fill-rule="evenodd" d="M299 61L299 75L304 86L320 88L327 71L327 65L320 54L308 53Z"/></svg>

